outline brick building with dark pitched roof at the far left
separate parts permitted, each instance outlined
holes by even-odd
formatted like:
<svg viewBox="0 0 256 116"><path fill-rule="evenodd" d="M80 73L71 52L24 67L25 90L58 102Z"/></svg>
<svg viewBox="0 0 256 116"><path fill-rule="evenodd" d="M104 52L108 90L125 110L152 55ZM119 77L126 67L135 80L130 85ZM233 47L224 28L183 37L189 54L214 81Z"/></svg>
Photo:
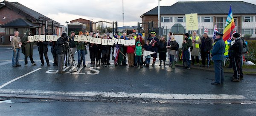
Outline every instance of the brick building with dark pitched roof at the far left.
<svg viewBox="0 0 256 116"><path fill-rule="evenodd" d="M31 31L32 35L52 35L60 32L60 23L18 2L1 2L0 14L0 44L10 44L10 36L14 35L16 30L20 32L20 37L23 37L27 30Z"/></svg>

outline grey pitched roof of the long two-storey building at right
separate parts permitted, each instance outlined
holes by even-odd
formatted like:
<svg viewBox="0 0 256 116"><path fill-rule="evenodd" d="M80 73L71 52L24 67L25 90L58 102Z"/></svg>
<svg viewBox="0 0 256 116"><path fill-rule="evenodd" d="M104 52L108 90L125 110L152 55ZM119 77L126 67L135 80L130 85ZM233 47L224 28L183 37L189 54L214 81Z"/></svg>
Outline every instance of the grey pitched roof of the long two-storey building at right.
<svg viewBox="0 0 256 116"><path fill-rule="evenodd" d="M228 14L230 5L233 14L256 14L256 5L244 1L177 2L172 6L160 6L160 14ZM158 7L155 7L143 15L157 14Z"/></svg>

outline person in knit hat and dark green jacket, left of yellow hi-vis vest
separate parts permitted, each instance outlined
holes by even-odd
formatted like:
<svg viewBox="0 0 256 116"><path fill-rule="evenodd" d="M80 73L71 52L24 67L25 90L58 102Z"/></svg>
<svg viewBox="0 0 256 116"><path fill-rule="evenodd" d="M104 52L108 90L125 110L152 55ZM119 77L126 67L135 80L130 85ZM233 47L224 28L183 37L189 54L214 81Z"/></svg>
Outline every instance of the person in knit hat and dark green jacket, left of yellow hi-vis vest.
<svg viewBox="0 0 256 116"><path fill-rule="evenodd" d="M189 37L189 34L184 34L184 40L182 43L182 50L183 50L183 68L190 69L191 61L190 61L190 54L189 48L192 46L192 40Z"/></svg>

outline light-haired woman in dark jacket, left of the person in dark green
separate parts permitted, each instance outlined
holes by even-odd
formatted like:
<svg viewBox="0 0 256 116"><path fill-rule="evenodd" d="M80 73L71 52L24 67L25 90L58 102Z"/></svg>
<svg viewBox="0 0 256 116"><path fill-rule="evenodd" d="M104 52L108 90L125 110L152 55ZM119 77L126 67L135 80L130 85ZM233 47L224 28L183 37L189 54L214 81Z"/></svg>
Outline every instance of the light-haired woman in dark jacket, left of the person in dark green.
<svg viewBox="0 0 256 116"><path fill-rule="evenodd" d="M176 49L178 48L178 43L175 40L175 36L171 35L166 48L168 49L168 55L170 57L169 67L175 68L174 57L176 55Z"/></svg>

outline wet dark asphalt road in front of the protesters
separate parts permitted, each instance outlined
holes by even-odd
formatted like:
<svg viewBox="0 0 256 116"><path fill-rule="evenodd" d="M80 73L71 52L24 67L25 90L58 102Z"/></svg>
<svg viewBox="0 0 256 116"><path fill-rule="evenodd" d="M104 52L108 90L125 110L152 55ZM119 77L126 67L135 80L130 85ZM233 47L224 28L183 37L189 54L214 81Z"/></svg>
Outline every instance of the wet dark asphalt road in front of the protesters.
<svg viewBox="0 0 256 116"><path fill-rule="evenodd" d="M78 116L170 116L170 115L215 115L215 110L219 112L219 116L241 116L248 114L253 116L256 113L256 78L254 76L246 75L241 82L230 82L232 74L224 74L224 85L210 85L214 79L214 72L203 70L186 70L180 67L175 69L169 67L160 67L156 65L150 68L129 68L128 66L117 66L113 64L110 67L90 67L90 62L87 62L87 67L81 67L79 74L56 74L57 66L52 66L52 54L48 52L48 57L51 66L41 66L37 46L34 47L34 61L36 66L32 66L29 62L28 66L24 66L24 55L20 54L21 67L13 68L12 63L12 50L10 47L0 47L0 86L6 82L11 81L19 76L23 76L31 71L33 72L27 76L17 79L14 82L4 86L1 90L33 90L33 91L72 91L72 92L124 92L124 93L175 93L175 94L227 94L227 95L242 95L249 104L239 102L233 104L236 100L228 100L229 102L222 102L222 99L212 101L195 100L193 102L169 102L166 104L155 102L141 102L140 100L99 100L96 102L85 101L56 101L47 99L25 99L24 98L8 98L12 99L16 104L0 103L1 112L3 116L9 115L10 112L18 114L17 112L23 111L21 114L33 116L31 111L36 114L44 116L63 116L76 114ZM49 48L50 49L50 48ZM89 52L89 51L88 51ZM77 53L75 54L77 60ZM86 55L86 61L89 61L89 54ZM151 60L152 61L152 60ZM113 61L111 61L113 62ZM45 63L46 64L46 63ZM92 71L93 69L96 71ZM66 71L69 71L67 68ZM76 70L76 69L74 69ZM54 96L54 95L48 95ZM29 95L27 96L29 97ZM64 96L65 97L65 96ZM142 98L143 99L143 98ZM182 100L182 99L181 99ZM244 100L244 99L243 99ZM25 101L25 102L24 102ZM119 101L119 102L113 102ZM155 100L153 100L155 101ZM142 104L144 103L144 104ZM213 103L213 104L212 104ZM217 105L214 103L218 103ZM241 105L241 103L243 105ZM69 107L70 112L67 111ZM56 108L55 110L49 110ZM253 110L254 109L254 110ZM89 112L89 113L88 113ZM226 114L226 115L224 115ZM1 115L1 114L0 114ZM24 116L20 115L20 116ZM70 116L69 115L69 116ZM234 116L233 115L233 116ZM1 115L2 116L2 115ZM11 116L11 115L10 115ZM18 116L18 115L13 115Z"/></svg>

